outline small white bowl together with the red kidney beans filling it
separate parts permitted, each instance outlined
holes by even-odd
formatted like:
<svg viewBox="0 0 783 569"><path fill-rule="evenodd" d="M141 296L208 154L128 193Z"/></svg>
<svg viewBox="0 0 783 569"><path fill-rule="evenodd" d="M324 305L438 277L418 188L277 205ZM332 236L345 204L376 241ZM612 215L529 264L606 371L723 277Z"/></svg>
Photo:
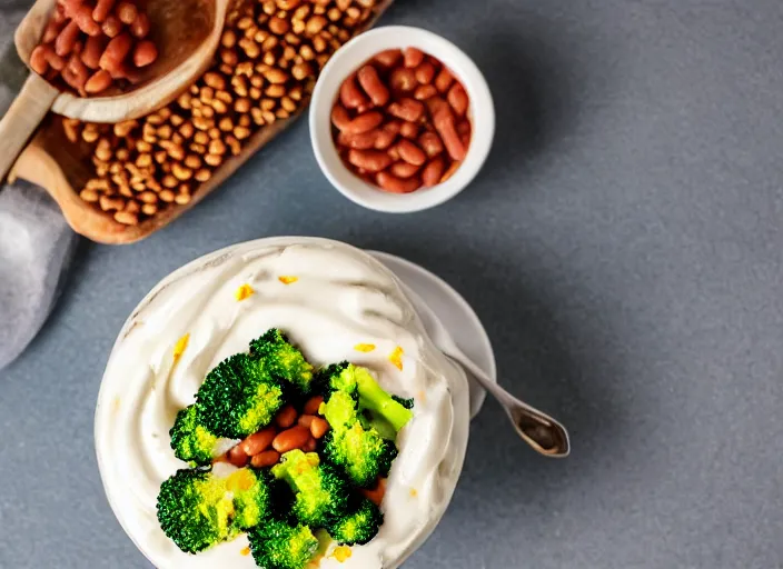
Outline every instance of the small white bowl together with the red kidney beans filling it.
<svg viewBox="0 0 783 569"><path fill-rule="evenodd" d="M346 43L316 84L310 137L350 200L409 212L453 198L478 173L495 111L478 68L432 32L386 27Z"/></svg>

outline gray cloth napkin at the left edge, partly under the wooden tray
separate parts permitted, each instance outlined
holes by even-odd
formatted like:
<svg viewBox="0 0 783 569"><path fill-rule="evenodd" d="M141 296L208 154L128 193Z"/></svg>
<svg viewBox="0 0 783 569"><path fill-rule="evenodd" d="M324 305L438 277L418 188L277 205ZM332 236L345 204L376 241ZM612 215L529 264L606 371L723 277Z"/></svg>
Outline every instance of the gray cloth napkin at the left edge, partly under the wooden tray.
<svg viewBox="0 0 783 569"><path fill-rule="evenodd" d="M31 2L0 0L0 113L26 77L13 30ZM57 298L77 236L42 189L0 187L0 370L36 337Z"/></svg>

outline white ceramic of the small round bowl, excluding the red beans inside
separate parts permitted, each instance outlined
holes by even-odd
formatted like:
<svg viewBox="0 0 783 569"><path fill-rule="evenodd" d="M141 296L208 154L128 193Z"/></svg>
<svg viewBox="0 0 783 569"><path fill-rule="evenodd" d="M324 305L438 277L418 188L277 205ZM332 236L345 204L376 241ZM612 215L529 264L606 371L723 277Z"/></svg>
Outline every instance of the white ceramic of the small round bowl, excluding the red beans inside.
<svg viewBox="0 0 783 569"><path fill-rule="evenodd" d="M470 99L468 117L473 138L467 157L444 183L412 193L387 193L348 170L331 138L331 108L346 77L374 54L393 48L416 47L439 59L465 86ZM390 213L420 211L459 193L476 177L495 136L495 107L489 87L476 64L450 41L433 32L406 26L387 26L363 33L343 46L320 73L310 103L310 139L318 166L345 197L365 208Z"/></svg>

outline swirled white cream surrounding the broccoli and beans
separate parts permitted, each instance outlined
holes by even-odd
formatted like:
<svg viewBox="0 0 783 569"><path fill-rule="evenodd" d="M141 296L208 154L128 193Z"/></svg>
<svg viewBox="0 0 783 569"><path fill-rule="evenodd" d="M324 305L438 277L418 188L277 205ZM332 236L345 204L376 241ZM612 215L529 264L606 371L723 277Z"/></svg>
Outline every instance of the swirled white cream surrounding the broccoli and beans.
<svg viewBox="0 0 783 569"><path fill-rule="evenodd" d="M288 284L280 277L296 277ZM255 291L238 301L237 290ZM168 431L195 400L207 372L247 351L269 328L284 330L315 366L350 360L389 392L416 400L400 431L383 503L385 522L366 546L323 569L394 569L443 516L462 470L468 433L465 375L430 342L385 267L344 243L314 238L261 239L217 251L163 279L133 311L111 352L96 410L96 447L109 502L137 547L160 569L252 569L240 536L198 555L161 531L160 483L186 465ZM189 335L179 358L180 339ZM357 345L374 345L358 351ZM403 349L403 369L390 360ZM331 547L334 549L334 546Z"/></svg>

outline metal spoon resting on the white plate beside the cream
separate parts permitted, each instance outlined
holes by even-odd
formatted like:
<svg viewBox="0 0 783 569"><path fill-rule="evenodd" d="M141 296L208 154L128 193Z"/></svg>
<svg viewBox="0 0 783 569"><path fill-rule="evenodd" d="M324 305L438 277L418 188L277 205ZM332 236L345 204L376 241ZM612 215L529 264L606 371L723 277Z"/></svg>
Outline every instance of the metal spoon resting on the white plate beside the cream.
<svg viewBox="0 0 783 569"><path fill-rule="evenodd" d="M469 371L482 387L497 399L505 409L506 415L508 415L519 437L541 455L556 458L567 457L571 452L571 443L565 427L548 415L512 396L508 391L489 379L489 377L457 347L452 335L446 330L446 327L429 306L427 306L410 287L404 282L399 282L399 286L413 302L433 342L435 342L446 356L456 360L463 368Z"/></svg>

